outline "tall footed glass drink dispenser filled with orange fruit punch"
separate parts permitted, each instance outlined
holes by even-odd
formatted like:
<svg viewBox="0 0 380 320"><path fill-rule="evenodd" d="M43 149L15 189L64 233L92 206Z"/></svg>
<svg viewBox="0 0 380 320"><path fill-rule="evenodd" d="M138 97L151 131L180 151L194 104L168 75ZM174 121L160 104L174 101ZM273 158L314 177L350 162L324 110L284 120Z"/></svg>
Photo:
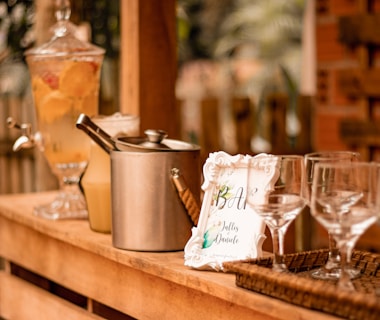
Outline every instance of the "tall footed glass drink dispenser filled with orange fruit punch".
<svg viewBox="0 0 380 320"><path fill-rule="evenodd" d="M87 217L78 183L90 156L90 139L76 128L76 120L81 113L98 113L104 50L74 36L70 12L69 0L57 0L54 36L25 53L39 146L61 190L52 203L34 209L36 215L47 219Z"/></svg>

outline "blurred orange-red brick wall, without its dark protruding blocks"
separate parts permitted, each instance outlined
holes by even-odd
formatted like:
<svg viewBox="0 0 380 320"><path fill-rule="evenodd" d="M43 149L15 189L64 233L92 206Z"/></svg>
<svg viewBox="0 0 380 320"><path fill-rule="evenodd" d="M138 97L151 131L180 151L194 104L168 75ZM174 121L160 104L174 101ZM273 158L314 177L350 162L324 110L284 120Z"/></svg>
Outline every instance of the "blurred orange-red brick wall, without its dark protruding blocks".
<svg viewBox="0 0 380 320"><path fill-rule="evenodd" d="M368 145L350 145L340 133L342 120L369 120L379 116L376 99L348 97L338 85L345 69L379 65L380 49L364 45L349 47L339 40L339 19L363 13L379 13L380 0L316 0L317 94L313 114L313 149L356 150L365 160L378 152ZM380 141L380 137L379 137Z"/></svg>

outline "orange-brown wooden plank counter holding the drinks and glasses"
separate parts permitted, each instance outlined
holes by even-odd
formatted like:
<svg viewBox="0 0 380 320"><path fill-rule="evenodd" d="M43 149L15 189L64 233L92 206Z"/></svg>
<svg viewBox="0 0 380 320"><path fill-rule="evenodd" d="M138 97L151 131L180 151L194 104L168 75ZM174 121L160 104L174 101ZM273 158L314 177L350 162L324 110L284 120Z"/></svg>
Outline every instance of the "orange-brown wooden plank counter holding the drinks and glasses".
<svg viewBox="0 0 380 320"><path fill-rule="evenodd" d="M120 250L87 221L32 215L54 195L0 196L0 318L337 319L239 288L233 274L187 268L183 252Z"/></svg>

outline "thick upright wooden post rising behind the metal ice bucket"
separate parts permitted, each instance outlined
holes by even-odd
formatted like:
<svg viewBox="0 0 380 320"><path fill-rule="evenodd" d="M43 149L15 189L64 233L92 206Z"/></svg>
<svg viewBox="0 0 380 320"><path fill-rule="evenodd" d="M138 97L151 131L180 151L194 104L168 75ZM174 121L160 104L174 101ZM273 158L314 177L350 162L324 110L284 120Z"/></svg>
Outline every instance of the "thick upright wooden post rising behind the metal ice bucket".
<svg viewBox="0 0 380 320"><path fill-rule="evenodd" d="M120 110L139 115L141 130L177 136L176 1L128 0L121 5Z"/></svg>

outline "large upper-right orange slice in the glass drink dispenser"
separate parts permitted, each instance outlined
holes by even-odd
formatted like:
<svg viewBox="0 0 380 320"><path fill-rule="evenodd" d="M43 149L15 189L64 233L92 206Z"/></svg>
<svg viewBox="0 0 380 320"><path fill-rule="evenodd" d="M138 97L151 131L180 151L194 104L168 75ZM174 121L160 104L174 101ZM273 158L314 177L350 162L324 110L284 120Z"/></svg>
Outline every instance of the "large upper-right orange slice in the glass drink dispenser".
<svg viewBox="0 0 380 320"><path fill-rule="evenodd" d="M59 77L59 90L69 97L85 97L96 88L96 71L91 62L72 61Z"/></svg>

